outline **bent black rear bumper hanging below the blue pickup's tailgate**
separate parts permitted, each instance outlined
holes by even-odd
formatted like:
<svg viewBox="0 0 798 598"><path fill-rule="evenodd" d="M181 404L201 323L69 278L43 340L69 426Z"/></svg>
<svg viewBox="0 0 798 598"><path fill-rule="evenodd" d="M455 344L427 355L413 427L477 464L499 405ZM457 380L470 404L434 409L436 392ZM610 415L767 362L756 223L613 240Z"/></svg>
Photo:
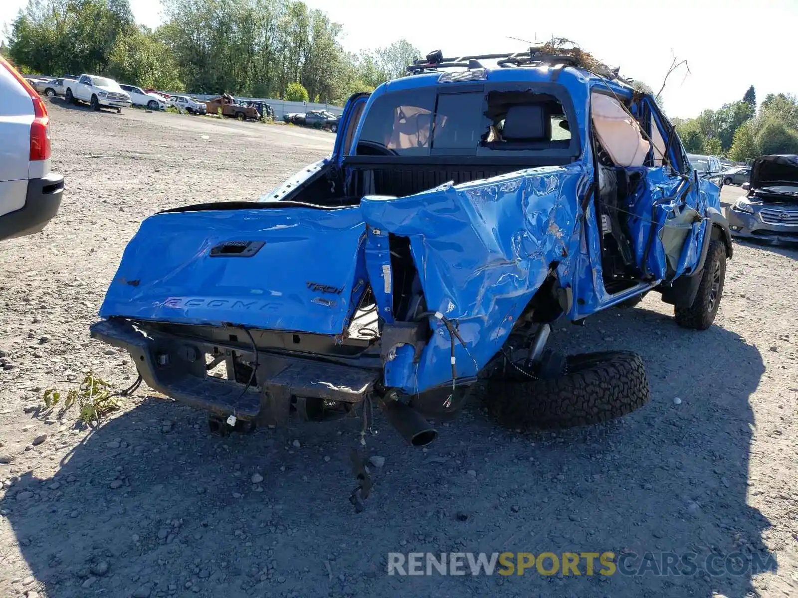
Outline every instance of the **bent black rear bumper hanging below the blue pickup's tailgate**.
<svg viewBox="0 0 798 598"><path fill-rule="evenodd" d="M91 326L91 336L128 351L142 379L159 391L202 411L283 423L291 399L301 396L342 403L360 403L373 390L379 372L290 356L275 356L238 347L208 344L181 336L144 333L124 318ZM215 352L217 351L217 352ZM258 368L251 388L207 375L206 355L234 356ZM228 368L230 372L231 368Z"/></svg>

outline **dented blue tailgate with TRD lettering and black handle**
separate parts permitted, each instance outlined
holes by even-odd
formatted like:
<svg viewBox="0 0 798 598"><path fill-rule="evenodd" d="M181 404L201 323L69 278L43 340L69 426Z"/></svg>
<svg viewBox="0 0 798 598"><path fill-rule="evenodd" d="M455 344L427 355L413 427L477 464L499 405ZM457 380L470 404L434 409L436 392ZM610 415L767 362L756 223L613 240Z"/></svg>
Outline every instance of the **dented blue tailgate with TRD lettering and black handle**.
<svg viewBox="0 0 798 598"><path fill-rule="evenodd" d="M364 233L358 207L156 214L124 250L99 315L335 335L361 278ZM231 241L265 244L249 258L210 257Z"/></svg>

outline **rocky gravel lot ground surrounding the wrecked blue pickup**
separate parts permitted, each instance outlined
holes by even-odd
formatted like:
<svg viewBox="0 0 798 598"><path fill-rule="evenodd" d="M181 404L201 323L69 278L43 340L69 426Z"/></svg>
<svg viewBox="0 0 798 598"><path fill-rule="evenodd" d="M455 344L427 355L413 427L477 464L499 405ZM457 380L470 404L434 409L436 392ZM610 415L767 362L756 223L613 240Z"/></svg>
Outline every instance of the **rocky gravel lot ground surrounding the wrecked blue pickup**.
<svg viewBox="0 0 798 598"><path fill-rule="evenodd" d="M429 450L377 419L384 462L354 513L356 420L221 439L146 388L93 431L34 411L88 369L135 380L88 328L142 218L251 199L333 137L57 100L51 116L61 213L0 244L0 595L798 596L798 252L737 244L707 332L655 296L559 326L568 352L643 356L653 399L624 419L521 435L472 405ZM647 572L386 574L387 553L424 551L611 551ZM658 575L660 553L700 566Z"/></svg>

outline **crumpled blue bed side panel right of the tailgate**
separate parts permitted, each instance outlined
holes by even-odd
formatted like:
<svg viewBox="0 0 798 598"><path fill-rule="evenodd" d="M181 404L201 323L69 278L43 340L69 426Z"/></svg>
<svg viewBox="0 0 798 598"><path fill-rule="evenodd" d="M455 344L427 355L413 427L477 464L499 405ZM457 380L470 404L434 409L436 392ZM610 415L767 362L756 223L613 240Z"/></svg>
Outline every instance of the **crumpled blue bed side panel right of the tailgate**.
<svg viewBox="0 0 798 598"><path fill-rule="evenodd" d="M457 321L464 340L455 341L458 378L476 376L496 355L551 263L570 262L579 244L577 198L588 184L577 164L361 200L369 227L409 238L428 309ZM436 318L431 325L417 364L398 363L412 360L412 351L397 352L391 364L394 380L405 372L407 393L452 380L452 339Z"/></svg>

